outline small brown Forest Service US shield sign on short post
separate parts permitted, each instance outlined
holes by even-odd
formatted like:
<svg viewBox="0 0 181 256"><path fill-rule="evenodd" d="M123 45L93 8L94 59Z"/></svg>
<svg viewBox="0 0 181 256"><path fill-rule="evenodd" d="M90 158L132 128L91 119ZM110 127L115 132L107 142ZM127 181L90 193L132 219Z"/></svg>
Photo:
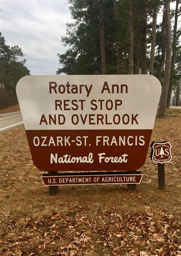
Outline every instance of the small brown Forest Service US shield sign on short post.
<svg viewBox="0 0 181 256"><path fill-rule="evenodd" d="M151 159L155 163L166 163L171 161L171 144L168 141L155 142L153 141L150 145L152 147Z"/></svg>

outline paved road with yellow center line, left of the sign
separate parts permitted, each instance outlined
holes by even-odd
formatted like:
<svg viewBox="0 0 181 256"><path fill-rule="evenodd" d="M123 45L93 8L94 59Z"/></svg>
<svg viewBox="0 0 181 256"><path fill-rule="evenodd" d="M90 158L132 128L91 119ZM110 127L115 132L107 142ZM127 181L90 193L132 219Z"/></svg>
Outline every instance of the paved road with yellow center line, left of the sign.
<svg viewBox="0 0 181 256"><path fill-rule="evenodd" d="M0 133L23 124L21 111L0 115Z"/></svg>

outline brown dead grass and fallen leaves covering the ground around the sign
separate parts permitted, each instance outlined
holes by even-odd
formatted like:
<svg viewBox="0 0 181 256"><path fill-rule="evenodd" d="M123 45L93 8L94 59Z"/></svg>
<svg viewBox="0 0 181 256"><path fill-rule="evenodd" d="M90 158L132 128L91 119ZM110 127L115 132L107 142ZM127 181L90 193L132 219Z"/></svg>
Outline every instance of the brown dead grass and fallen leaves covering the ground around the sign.
<svg viewBox="0 0 181 256"><path fill-rule="evenodd" d="M33 164L23 126L0 134L0 254L180 255L181 111L156 118L151 141L169 141L166 190L158 190L150 149L136 191L126 185L59 186L49 196Z"/></svg>

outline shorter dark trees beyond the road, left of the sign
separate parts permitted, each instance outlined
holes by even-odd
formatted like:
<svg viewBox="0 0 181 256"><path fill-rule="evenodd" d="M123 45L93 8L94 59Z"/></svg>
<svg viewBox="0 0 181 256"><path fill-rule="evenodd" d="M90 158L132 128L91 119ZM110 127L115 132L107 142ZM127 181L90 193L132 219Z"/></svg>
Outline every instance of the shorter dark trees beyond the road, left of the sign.
<svg viewBox="0 0 181 256"><path fill-rule="evenodd" d="M10 47L5 44L5 39L0 32L0 109L18 103L16 84L23 76L29 75L29 70L24 66L26 60L17 45Z"/></svg>

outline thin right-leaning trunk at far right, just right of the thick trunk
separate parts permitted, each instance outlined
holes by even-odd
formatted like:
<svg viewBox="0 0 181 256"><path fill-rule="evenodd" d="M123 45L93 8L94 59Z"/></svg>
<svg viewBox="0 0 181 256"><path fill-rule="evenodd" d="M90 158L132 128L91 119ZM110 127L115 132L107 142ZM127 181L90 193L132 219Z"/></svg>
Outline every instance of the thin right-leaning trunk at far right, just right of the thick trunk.
<svg viewBox="0 0 181 256"><path fill-rule="evenodd" d="M173 29L173 42L172 42L171 75L172 75L172 73L174 72L174 69L175 69L176 43L177 43L176 32L177 32L177 22L178 22L178 4L179 4L179 0L176 0L175 23L174 23L174 29ZM170 107L171 92L172 92L172 87L171 87L171 84L170 84L169 89L168 89L167 102L166 102L166 107L167 108Z"/></svg>

